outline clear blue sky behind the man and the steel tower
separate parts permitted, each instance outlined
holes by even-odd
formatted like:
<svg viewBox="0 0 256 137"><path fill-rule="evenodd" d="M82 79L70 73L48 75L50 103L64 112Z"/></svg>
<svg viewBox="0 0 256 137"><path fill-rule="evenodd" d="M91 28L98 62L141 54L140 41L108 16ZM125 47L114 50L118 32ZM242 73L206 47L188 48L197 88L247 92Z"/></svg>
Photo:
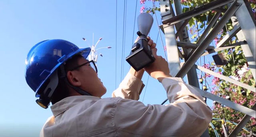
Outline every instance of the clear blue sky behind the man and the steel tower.
<svg viewBox="0 0 256 137"><path fill-rule="evenodd" d="M147 2L149 6L152 3ZM136 17L140 13L139 3ZM102 37L99 47L111 46L112 49L101 49L103 57L98 58L98 76L107 88L103 98L111 97L121 80L122 37L124 1L118 0L117 12L117 48L116 48L116 1L115 0L1 0L0 1L0 80L2 104L0 113L0 136L7 137L19 134L20 137L38 136L46 119L52 115L35 102L35 94L26 84L25 59L30 48L46 39L65 39L78 47L92 45ZM126 33L124 57L128 56L132 46L132 37L136 37L137 25L134 27L136 0L127 1ZM160 22L160 13L157 13ZM150 37L156 41L158 28L154 23ZM162 34L163 36L163 34ZM82 40L87 39L87 42ZM163 38L164 39L164 38ZM164 57L160 39L157 43L158 54ZM115 60L117 50L117 71ZM123 60L124 61L124 60ZM130 66L124 61L124 75ZM147 83L148 74L142 81ZM146 89L146 94L144 96ZM143 100L144 96L144 100ZM160 104L166 99L166 92L157 80L149 78L148 85L142 91L140 101L144 104Z"/></svg>

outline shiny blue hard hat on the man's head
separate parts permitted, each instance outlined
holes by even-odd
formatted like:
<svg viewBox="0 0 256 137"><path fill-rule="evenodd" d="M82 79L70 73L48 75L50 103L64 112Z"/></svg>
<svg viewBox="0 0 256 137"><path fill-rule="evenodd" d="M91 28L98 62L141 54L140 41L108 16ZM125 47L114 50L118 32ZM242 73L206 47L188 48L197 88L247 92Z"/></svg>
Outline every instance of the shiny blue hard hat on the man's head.
<svg viewBox="0 0 256 137"><path fill-rule="evenodd" d="M55 74L60 65L74 55L82 55L85 59L90 54L91 48L79 48L69 41L62 39L45 40L37 43L30 49L26 59L26 82L40 97L38 91L42 85Z"/></svg>

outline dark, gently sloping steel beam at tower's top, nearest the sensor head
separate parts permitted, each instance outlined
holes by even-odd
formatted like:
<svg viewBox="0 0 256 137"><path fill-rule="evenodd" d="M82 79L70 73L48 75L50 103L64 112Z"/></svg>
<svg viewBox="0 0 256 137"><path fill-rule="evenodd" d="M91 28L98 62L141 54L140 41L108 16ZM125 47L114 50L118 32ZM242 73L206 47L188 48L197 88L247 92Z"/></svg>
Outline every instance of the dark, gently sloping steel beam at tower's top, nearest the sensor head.
<svg viewBox="0 0 256 137"><path fill-rule="evenodd" d="M218 8L220 6L226 5L230 2L233 2L234 0L215 0L213 2L210 2L208 4L205 4L203 6L200 6L198 8L195 8L194 10L190 10L188 12L185 12L183 14L180 14L178 16L167 18L162 21L163 24L170 23L169 25L173 25L175 23L181 22L183 20L186 20L188 18L192 18L194 16L197 16L199 14L202 14L204 12L207 12L209 10L213 10L215 8Z"/></svg>

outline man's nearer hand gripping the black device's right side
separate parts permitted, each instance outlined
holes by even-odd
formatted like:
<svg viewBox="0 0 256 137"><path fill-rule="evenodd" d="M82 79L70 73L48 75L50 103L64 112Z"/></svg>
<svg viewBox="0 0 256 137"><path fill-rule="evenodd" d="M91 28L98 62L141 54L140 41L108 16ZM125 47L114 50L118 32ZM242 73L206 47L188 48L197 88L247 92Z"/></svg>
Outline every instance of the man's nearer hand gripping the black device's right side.
<svg viewBox="0 0 256 137"><path fill-rule="evenodd" d="M150 76L162 82L164 78L172 76L170 75L168 63L162 56L156 55L156 51L156 48L152 49L152 54L156 60L149 66L145 67L144 70L146 70Z"/></svg>

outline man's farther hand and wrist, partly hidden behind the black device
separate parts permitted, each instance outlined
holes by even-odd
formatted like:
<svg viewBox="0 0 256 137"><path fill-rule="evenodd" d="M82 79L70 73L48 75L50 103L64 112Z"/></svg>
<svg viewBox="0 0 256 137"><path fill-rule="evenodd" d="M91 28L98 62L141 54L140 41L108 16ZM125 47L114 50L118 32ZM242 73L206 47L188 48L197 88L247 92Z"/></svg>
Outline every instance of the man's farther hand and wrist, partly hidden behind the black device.
<svg viewBox="0 0 256 137"><path fill-rule="evenodd" d="M137 37L137 39L135 40L135 42L138 41L138 38L139 38L139 37ZM154 48L156 47L156 43L154 43L154 41L153 41L152 39L150 39L150 37L147 37L147 39L148 39L148 45L150 46L150 48L151 48L151 49L154 49ZM141 69L141 70L139 70L139 71L137 72L133 67L131 67L129 72L130 72L132 75L136 76L137 78L142 79L142 76L143 76L143 74L144 74L144 69Z"/></svg>

